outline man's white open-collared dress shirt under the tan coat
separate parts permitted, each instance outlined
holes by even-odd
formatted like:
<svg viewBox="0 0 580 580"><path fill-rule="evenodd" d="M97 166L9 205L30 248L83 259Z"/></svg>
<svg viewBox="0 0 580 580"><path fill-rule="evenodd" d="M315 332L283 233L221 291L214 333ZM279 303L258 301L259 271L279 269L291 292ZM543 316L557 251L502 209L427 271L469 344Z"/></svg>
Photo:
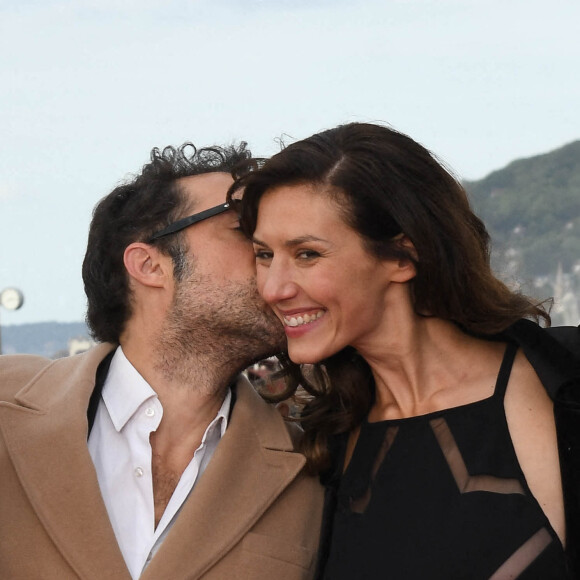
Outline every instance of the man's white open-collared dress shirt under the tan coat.
<svg viewBox="0 0 580 580"><path fill-rule="evenodd" d="M159 549L209 463L226 430L231 398L228 390L155 528L149 435L159 427L163 407L122 348L117 348L103 385L89 452L113 530L134 580Z"/></svg>

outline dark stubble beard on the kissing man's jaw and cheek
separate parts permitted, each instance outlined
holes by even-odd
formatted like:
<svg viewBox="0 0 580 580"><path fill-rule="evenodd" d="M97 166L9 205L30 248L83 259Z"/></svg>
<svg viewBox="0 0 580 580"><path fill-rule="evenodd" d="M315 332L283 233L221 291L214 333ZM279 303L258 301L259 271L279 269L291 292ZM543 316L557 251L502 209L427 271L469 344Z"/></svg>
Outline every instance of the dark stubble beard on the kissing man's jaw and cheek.
<svg viewBox="0 0 580 580"><path fill-rule="evenodd" d="M283 326L260 298L253 278L216 282L193 271L176 282L156 346L156 367L168 380L219 390L224 378L229 381L285 348Z"/></svg>

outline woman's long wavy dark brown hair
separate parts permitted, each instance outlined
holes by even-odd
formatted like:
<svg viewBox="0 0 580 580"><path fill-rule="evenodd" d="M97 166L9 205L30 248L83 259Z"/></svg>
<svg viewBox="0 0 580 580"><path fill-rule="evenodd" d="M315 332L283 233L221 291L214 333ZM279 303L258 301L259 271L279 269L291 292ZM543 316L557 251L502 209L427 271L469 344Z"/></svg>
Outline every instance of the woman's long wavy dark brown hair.
<svg viewBox="0 0 580 580"><path fill-rule="evenodd" d="M541 304L510 290L493 274L490 238L458 181L422 145L385 126L351 123L293 143L267 161L254 160L229 193L240 197L247 235L256 227L268 190L310 184L331 196L345 222L382 259L407 258L416 266L411 282L415 311L489 337L520 318L550 317ZM238 202L239 203L239 202ZM398 244L404 233L416 259ZM300 421L302 451L311 472L329 467L329 438L355 428L374 397L369 366L347 347L307 371L283 360L290 377L278 399L301 385L308 394Z"/></svg>

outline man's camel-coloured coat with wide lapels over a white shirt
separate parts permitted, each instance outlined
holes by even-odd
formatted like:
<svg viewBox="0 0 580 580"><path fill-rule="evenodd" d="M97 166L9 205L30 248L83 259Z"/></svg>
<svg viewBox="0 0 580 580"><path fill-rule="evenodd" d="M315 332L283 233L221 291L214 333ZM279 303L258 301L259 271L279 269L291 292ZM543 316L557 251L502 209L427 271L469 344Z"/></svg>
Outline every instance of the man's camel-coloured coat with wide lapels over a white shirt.
<svg viewBox="0 0 580 580"><path fill-rule="evenodd" d="M95 373L112 348L0 357L2 579L130 580L87 448ZM302 473L278 412L245 379L236 392L228 429L143 580L314 575L323 490Z"/></svg>

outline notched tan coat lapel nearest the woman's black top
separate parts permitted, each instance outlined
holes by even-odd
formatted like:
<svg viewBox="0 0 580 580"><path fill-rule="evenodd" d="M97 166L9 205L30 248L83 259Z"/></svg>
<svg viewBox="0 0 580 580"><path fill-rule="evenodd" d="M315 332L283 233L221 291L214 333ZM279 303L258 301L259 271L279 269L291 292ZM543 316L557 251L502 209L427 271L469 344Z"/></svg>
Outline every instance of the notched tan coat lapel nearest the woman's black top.
<svg viewBox="0 0 580 580"><path fill-rule="evenodd" d="M283 420L244 379L216 452L143 580L198 578L232 549L304 466Z"/></svg>

